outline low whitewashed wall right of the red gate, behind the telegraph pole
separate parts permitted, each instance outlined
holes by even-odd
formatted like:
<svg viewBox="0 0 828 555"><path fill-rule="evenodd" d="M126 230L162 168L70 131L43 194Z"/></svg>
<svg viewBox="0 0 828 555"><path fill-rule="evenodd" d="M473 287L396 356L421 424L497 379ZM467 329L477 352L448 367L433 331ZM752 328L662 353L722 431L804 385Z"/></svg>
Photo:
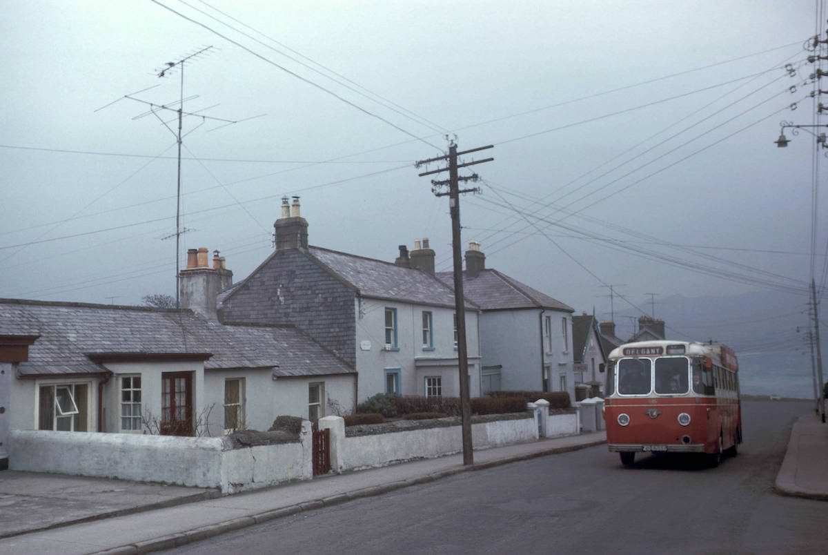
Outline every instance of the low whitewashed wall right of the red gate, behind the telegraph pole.
<svg viewBox="0 0 828 555"><path fill-rule="evenodd" d="M335 471L387 466L463 449L459 417L369 424L347 431L341 421L339 417L320 419L320 427L331 431L331 466ZM533 442L537 430L531 413L474 417L472 442L475 449Z"/></svg>

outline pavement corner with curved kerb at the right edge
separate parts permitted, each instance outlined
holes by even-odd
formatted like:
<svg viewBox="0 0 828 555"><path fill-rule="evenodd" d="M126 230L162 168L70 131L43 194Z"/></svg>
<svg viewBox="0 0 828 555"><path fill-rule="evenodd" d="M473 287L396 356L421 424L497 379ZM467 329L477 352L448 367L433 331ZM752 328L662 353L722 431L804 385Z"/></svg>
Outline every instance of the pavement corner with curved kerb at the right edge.
<svg viewBox="0 0 828 555"><path fill-rule="evenodd" d="M828 424L816 414L800 417L791 429L775 488L782 495L828 501Z"/></svg>

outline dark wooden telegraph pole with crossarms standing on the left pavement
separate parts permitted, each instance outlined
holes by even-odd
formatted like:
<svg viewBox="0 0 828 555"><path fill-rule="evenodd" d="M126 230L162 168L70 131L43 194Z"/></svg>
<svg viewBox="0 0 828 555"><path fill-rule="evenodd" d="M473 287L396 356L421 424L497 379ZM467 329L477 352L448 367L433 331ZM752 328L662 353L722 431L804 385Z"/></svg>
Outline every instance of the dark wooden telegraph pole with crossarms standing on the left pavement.
<svg viewBox="0 0 828 555"><path fill-rule="evenodd" d="M469 354L466 349L466 334L465 334L465 297L463 297L463 258L460 253L462 241L460 239L460 194L461 193L476 193L479 192L478 187L471 189L460 189L460 181L477 181L479 176L475 173L471 176L459 176L458 170L461 167L474 166L474 164L482 164L484 162L491 162L494 158L485 158L473 162L465 162L458 164L457 157L471 152L479 152L487 148L493 148L494 145L487 147L472 148L464 152L457 152L457 145L454 141L449 142L449 153L445 156L429 158L416 162L416 167L421 167L429 162L445 161L448 162L448 167L441 167L436 170L424 171L419 176L429 176L440 173L442 171L449 172L449 179L443 181L431 181L431 191L436 196L449 197L449 208L451 214L451 253L454 258L454 278L455 278L455 314L457 316L457 367L460 372L460 408L461 408L461 423L463 429L463 464L465 466L474 464L474 446L471 442L471 403L469 401ZM441 191L441 187L449 186L449 191Z"/></svg>

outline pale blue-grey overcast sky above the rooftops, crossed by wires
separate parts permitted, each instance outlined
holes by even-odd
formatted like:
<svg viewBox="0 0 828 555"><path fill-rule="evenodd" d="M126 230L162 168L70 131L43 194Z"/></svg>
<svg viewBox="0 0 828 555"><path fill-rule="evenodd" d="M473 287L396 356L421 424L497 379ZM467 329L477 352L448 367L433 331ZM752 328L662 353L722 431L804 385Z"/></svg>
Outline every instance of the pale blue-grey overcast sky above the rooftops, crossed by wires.
<svg viewBox="0 0 828 555"><path fill-rule="evenodd" d="M154 116L136 119L147 109L137 102L95 110L156 84L137 98L178 99L180 74L159 79L156 68L203 46L214 46L212 55L185 65L185 96L198 95L185 109L218 104L204 113L231 120L267 114L216 131L206 122L185 138L187 158L234 161L184 161L183 220L193 230L182 249L220 249L236 280L271 252L283 194L301 195L311 244L393 260L398 244L428 237L438 268L449 269L447 200L412 167L445 149L443 130L456 133L461 150L495 145L479 156L494 162L475 168L483 195L462 200L464 241L483 244L489 267L578 311L609 311L602 282L625 284L620 291L639 306L647 292L717 296L763 287L578 239L581 231L693 268L794 287L809 276L802 254L700 251L751 268L734 267L628 230L682 245L808 251L813 142L806 133L788 133L784 150L773 141L782 119L811 123L810 99L796 111L786 107L810 90L802 86L813 70L803 64L802 42L814 33L813 2L159 1L272 63L150 0L4 3L0 297L130 304L174 293L175 241L161 238L175 231L175 139ZM284 54L325 72L288 48L386 105L290 60ZM760 51L767 52L600 94ZM785 63L802 67L789 77ZM635 109L649 103L657 104ZM598 119L580 123L591 118ZM185 119L185 132L199 123ZM152 158L159 154L166 158ZM343 182L324 186L335 181ZM538 212L546 221L515 215L539 210L541 197L555 201ZM138 224L147 220L154 221ZM109 230L87 234L101 229ZM83 235L48 240L75 234ZM821 229L820 250L826 237ZM27 245L7 248L17 244Z"/></svg>

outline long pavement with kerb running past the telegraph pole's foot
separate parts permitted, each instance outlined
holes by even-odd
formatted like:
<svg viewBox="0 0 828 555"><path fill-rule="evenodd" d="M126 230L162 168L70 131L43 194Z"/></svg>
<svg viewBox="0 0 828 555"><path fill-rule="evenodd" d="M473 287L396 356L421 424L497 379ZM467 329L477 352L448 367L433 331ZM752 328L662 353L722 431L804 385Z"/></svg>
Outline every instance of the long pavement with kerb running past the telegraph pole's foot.
<svg viewBox="0 0 828 555"><path fill-rule="evenodd" d="M291 485L209 499L167 509L75 524L0 540L0 553L147 553L209 538L304 510L380 495L469 470L574 451L606 441L604 432L475 451L460 455L331 475Z"/></svg>

